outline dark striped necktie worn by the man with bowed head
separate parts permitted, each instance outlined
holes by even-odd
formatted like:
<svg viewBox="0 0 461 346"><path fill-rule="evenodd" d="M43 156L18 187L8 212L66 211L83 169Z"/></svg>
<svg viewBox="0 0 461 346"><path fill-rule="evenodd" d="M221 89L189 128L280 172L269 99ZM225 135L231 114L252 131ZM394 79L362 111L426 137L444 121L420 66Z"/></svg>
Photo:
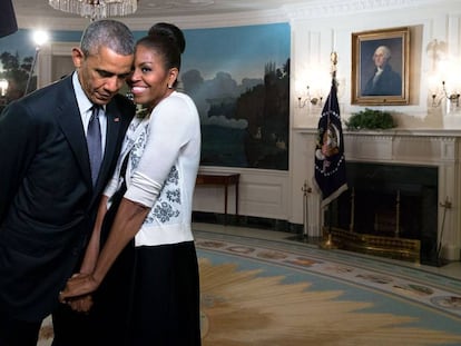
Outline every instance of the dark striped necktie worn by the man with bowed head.
<svg viewBox="0 0 461 346"><path fill-rule="evenodd" d="M99 125L99 106L92 106L91 118L88 122L87 144L91 167L92 186L96 185L102 161L101 128Z"/></svg>

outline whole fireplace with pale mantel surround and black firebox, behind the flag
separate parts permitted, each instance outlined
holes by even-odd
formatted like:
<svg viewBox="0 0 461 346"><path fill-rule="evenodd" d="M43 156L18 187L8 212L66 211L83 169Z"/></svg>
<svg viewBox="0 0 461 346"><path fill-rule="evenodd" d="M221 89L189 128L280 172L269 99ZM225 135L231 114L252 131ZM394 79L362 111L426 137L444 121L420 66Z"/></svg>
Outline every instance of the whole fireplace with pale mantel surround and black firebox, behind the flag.
<svg viewBox="0 0 461 346"><path fill-rule="evenodd" d="M312 148L316 140L316 128L298 128L293 136L297 147L306 148L292 160L292 194L296 200L303 198L300 187L308 186L314 176ZM388 254L389 245L394 247L394 254L411 253L418 257L414 260L422 263L439 265L460 260L459 130L344 131L344 154L350 189L327 212L321 207L316 189L307 194L304 234L308 238L324 236L330 227L353 250L371 248ZM372 181L374 175L381 178ZM351 231L352 206L355 210ZM365 212L359 214L359 210Z"/></svg>

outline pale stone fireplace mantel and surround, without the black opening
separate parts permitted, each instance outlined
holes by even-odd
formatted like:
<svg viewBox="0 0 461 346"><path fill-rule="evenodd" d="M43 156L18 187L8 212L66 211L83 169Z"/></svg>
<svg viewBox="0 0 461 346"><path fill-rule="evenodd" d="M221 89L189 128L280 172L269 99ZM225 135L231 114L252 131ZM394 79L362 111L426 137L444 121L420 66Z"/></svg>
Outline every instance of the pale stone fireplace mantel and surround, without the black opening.
<svg viewBox="0 0 461 346"><path fill-rule="evenodd" d="M316 128L297 128L294 132L304 137L307 146L314 147ZM442 245L441 254L444 259L459 260L461 249L461 131L442 129L345 130L343 135L346 161L438 167L440 206L438 241ZM313 150L306 150L305 154L307 156L305 160L313 164L311 157ZM312 172L313 167L310 168L305 179L311 180ZM313 200L317 204L318 196L313 196ZM451 207L445 210L447 201ZM314 209L318 210L318 207ZM321 229L323 224L321 215L322 212L308 215L308 230Z"/></svg>

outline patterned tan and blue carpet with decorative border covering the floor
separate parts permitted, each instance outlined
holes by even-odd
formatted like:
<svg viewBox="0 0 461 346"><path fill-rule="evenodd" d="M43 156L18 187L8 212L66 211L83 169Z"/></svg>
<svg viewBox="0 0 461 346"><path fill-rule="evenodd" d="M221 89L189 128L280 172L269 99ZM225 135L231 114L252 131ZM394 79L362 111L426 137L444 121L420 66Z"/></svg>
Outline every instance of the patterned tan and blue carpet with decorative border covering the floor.
<svg viewBox="0 0 461 346"><path fill-rule="evenodd" d="M195 237L204 346L461 345L461 280L306 244ZM49 320L42 332L50 345Z"/></svg>

